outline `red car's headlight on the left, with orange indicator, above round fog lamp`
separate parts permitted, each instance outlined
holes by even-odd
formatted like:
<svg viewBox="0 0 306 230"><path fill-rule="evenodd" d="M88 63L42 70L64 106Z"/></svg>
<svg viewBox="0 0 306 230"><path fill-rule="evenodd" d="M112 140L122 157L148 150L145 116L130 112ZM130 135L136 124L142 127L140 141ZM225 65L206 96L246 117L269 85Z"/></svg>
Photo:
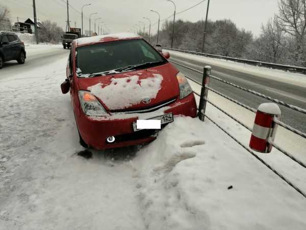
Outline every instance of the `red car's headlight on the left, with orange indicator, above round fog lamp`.
<svg viewBox="0 0 306 230"><path fill-rule="evenodd" d="M80 90L79 99L82 110L87 116L102 117L109 115L101 103L89 91Z"/></svg>

